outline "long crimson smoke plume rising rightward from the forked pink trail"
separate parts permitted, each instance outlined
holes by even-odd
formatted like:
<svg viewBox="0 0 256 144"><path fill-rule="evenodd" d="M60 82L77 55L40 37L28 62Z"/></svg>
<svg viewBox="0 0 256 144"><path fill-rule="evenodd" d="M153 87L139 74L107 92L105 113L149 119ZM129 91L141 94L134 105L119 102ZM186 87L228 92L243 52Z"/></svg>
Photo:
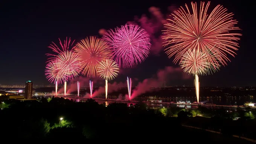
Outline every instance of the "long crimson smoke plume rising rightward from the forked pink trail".
<svg viewBox="0 0 256 144"><path fill-rule="evenodd" d="M140 82L136 89L132 91L131 99L143 93L150 92L153 87L161 87L166 80L173 80L175 78L186 80L189 79L190 76L185 74L181 68L167 66L165 69L159 70L155 78L148 78Z"/></svg>

